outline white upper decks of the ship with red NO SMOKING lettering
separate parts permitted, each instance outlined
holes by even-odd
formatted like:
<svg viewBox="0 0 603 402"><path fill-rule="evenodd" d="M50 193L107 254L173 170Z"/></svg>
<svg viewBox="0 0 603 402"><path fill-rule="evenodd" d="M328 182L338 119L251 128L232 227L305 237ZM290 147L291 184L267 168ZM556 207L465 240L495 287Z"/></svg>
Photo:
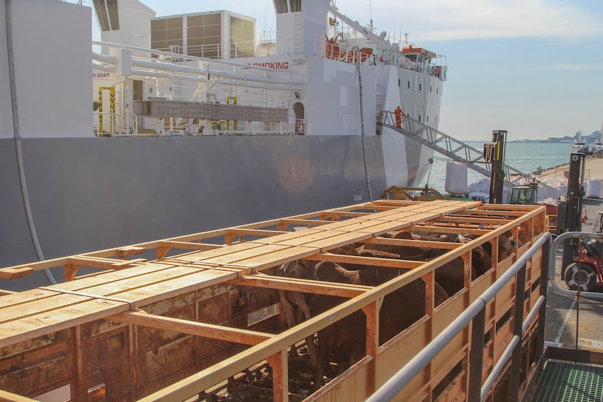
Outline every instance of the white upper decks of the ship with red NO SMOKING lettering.
<svg viewBox="0 0 603 402"><path fill-rule="evenodd" d="M127 6L146 8L141 3L136 5L136 1ZM143 122L139 118L140 124L136 125L132 121L134 103L131 100L149 96L283 108L288 113L288 120L279 124L249 120L220 124L211 119L192 123L193 129L200 129L202 134L274 134L278 131L306 135L375 135L378 113L394 110L398 105L407 115L437 128L442 83L446 79L446 66L442 65L441 57L406 42L390 43L385 32L374 34L329 6L327 0L275 1L275 7L276 41L259 43L248 41L250 32L255 31L253 19L223 10L159 17L152 22L143 18L132 20L132 24L142 26L136 29L138 32L143 32L144 27L155 27L143 42L171 52L103 48L104 52L117 57L113 63L103 63L104 68L97 70L94 87L113 87L122 95L115 110L115 134L132 134L141 124L145 129L142 132L147 132L148 127L158 131L157 122ZM137 10L135 13L140 14ZM327 15L330 15L328 20ZM212 37L213 41L209 42L213 43L201 45L198 38L190 37L195 35L195 29L213 29L220 35ZM129 31L126 34L126 38L122 38L107 31L104 39L127 43L132 34ZM166 40L170 35L173 40ZM120 66L131 66L131 69L119 71ZM115 73L108 72L111 69ZM110 82L104 87L102 82L106 81ZM108 95L105 90L104 97ZM119 103L124 107L120 109ZM124 125L120 126L120 122ZM168 127L190 132L189 123L172 121ZM423 176L425 158L430 152L406 155L402 136L390 138L388 135L392 133L387 129L383 134L387 136L383 140L387 185L416 182L417 177Z"/></svg>

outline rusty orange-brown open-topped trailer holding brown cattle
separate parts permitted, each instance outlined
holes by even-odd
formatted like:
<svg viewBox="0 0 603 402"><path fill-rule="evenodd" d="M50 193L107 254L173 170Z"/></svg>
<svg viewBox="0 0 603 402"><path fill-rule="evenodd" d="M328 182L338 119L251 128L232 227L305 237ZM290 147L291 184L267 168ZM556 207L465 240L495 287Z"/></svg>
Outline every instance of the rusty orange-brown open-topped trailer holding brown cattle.
<svg viewBox="0 0 603 402"><path fill-rule="evenodd" d="M402 231L419 235L388 235ZM509 235L517 247L502 252ZM464 241L441 241L455 236ZM2 292L0 400L364 401L404 370L391 400L526 400L544 359L549 243L543 206L381 200L1 268L2 280L50 269L64 282ZM431 257L341 254L350 245ZM293 261L397 275L380 285L275 275ZM442 296L449 284L436 278L455 261L460 288ZM281 291L339 299L288 328ZM409 294L418 308L392 305ZM320 359L336 327L347 332L316 380L306 342Z"/></svg>

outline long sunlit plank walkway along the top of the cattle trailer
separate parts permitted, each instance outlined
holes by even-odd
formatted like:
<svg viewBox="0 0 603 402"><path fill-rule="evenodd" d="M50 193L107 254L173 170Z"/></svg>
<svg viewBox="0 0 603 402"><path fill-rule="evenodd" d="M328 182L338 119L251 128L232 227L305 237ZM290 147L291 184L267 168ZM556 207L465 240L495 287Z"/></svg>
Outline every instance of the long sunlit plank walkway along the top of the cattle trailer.
<svg viewBox="0 0 603 402"><path fill-rule="evenodd" d="M355 212L357 210L370 211L371 208L375 212ZM185 253L166 257L161 261L137 259L129 268L115 268L109 264L107 269L117 270L59 285L2 296L0 347L6 347L25 338L34 338L85 322L125 313L140 306L220 282L236 281L237 278L254 275L265 268L278 266L286 261L310 257L341 245L366 241L385 232L411 227L419 222L437 220L455 213L470 213L470 211L477 216L475 213L481 208L486 208L486 206L482 206L478 201L439 200L429 203L404 203L381 200L360 204L360 206L322 211L315 215L306 214L290 218L292 222L316 222L313 227L308 229L288 232L274 231L276 235L264 237L262 234L269 233L250 232L259 238L223 247L216 246L211 250L186 250ZM519 215L530 212L534 208L537 207L509 206L510 210L518 211ZM320 216L344 216L346 211L349 211L347 216L355 217L329 223L322 222L320 219L313 220ZM506 213L497 209L489 210L489 212L490 215L497 218ZM340 215L342 213L343 215ZM267 224L275 222L277 221L267 222ZM250 226L246 225L246 227ZM257 227L261 226L257 225ZM236 232L236 228L228 230ZM220 233L222 231L211 232L212 235ZM190 240L192 238L202 239L203 236L201 234L183 236L182 238L166 239L165 242L178 245L178 242L192 241ZM83 255L87 259L99 258L99 261L104 263L106 261L103 259L110 259L111 253L123 257L124 254L137 254L141 250L151 247L150 245L159 247L159 244L161 241ZM98 256L102 256L102 259ZM71 257L71 261L79 261L76 257L81 256ZM68 258L53 261L55 261L54 266L64 266L68 264L66 261L70 260ZM120 259L113 261L122 262ZM43 261L2 268L0 274L5 272L6 275L10 275L15 270L20 271L27 268L37 270L49 265L48 261Z"/></svg>

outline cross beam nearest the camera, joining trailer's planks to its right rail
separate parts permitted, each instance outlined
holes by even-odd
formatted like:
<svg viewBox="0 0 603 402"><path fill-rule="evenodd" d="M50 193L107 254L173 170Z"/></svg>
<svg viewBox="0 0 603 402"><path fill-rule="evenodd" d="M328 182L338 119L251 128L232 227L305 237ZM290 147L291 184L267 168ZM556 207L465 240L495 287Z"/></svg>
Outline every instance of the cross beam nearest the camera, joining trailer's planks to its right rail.
<svg viewBox="0 0 603 402"><path fill-rule="evenodd" d="M182 332L194 336L203 336L204 338L227 340L229 342L242 343L243 345L257 345L264 340L272 338L272 335L269 333L229 328L205 322L180 320L179 318L162 317L161 315L152 315L141 311L128 311L126 313L111 315L107 318L133 325Z"/></svg>

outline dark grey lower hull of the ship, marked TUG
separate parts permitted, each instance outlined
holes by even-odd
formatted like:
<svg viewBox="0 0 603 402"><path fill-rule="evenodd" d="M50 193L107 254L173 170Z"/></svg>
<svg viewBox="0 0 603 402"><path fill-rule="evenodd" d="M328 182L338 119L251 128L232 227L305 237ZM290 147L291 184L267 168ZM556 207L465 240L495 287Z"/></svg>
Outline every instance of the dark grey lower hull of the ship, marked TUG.
<svg viewBox="0 0 603 402"><path fill-rule="evenodd" d="M378 198L382 137L365 140ZM406 148L420 153L418 144ZM361 136L45 138L22 140L22 150L45 259L370 198ZM14 140L0 140L0 266L37 261L15 155ZM409 177L417 169L409 161ZM43 275L24 282L46 284ZM0 289L15 286L24 284L0 280Z"/></svg>

